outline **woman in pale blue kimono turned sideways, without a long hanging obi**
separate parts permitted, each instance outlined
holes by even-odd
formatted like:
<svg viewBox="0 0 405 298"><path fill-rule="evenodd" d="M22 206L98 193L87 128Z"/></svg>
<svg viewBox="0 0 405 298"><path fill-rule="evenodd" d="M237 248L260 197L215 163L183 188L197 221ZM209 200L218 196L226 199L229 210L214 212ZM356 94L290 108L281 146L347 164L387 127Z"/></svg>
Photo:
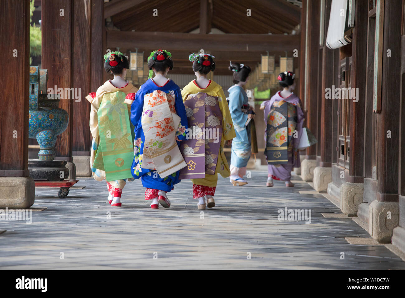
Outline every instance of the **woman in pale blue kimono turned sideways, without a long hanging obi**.
<svg viewBox="0 0 405 298"><path fill-rule="evenodd" d="M249 118L253 118L253 111L247 104L247 95L243 86L246 84L250 67L244 64L232 63L229 70L233 71L234 85L228 89L229 109L234 124L236 137L232 141L230 157L230 182L236 186L247 184L243 179L246 174L246 165L251 155L252 139L250 129L246 126Z"/></svg>

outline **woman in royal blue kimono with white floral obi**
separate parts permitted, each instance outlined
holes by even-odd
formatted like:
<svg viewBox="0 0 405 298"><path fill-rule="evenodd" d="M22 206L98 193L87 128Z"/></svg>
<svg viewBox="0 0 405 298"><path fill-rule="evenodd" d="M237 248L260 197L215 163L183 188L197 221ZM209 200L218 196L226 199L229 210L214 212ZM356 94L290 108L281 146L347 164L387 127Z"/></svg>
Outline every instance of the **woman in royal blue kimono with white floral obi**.
<svg viewBox="0 0 405 298"><path fill-rule="evenodd" d="M185 140L188 122L180 88L166 78L173 69L170 52L153 51L148 67L149 79L139 87L131 105L135 126L132 176L141 177L145 199L152 200L152 209L158 209L158 203L169 208L166 192L180 182L179 170L186 166L179 146Z"/></svg>

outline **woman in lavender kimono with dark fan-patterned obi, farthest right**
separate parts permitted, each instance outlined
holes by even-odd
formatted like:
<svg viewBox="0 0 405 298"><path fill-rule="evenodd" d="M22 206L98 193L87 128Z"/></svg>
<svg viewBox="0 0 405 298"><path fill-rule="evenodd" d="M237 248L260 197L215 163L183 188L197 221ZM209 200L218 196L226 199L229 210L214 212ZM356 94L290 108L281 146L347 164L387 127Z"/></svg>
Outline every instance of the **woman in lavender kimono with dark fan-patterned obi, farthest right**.
<svg viewBox="0 0 405 298"><path fill-rule="evenodd" d="M294 73L285 71L277 77L283 90L277 92L269 101L264 101L260 109L264 109L266 122L266 149L269 174L266 185L273 186L273 179L285 181L286 187L294 187L291 183L292 167L300 167L298 144L302 134L304 113L301 100L294 90Z"/></svg>

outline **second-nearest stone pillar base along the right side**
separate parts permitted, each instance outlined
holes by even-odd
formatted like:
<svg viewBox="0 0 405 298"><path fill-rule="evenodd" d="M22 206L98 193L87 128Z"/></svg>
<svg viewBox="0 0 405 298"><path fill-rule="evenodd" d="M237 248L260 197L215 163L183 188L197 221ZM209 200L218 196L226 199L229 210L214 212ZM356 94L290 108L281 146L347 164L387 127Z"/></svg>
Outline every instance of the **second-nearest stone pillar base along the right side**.
<svg viewBox="0 0 405 298"><path fill-rule="evenodd" d="M340 187L340 209L348 216L357 216L358 205L363 202L362 183L343 183Z"/></svg>

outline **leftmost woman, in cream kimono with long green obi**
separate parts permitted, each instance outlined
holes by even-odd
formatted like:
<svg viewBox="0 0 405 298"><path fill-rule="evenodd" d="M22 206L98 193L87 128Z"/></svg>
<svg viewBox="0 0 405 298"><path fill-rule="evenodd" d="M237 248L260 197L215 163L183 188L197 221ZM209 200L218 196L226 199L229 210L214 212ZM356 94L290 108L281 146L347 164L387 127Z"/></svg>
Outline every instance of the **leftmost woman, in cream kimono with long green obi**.
<svg viewBox="0 0 405 298"><path fill-rule="evenodd" d="M138 90L124 80L128 59L115 51L104 55L104 69L114 75L86 96L91 103L90 131L92 151L90 167L95 180L107 181L111 206L121 207L121 193L126 180L132 181L131 165L134 158L133 129L130 124L130 106Z"/></svg>

